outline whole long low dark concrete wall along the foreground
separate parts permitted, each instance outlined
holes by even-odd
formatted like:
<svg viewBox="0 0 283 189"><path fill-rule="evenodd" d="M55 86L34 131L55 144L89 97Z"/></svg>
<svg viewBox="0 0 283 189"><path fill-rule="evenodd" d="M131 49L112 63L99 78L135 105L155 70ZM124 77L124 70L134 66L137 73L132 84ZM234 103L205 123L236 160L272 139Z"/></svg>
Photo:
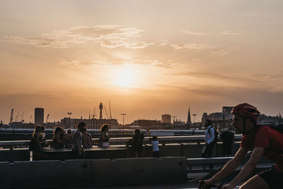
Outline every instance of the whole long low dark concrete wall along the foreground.
<svg viewBox="0 0 283 189"><path fill-rule="evenodd" d="M1 188L181 183L185 157L0 162Z"/></svg>

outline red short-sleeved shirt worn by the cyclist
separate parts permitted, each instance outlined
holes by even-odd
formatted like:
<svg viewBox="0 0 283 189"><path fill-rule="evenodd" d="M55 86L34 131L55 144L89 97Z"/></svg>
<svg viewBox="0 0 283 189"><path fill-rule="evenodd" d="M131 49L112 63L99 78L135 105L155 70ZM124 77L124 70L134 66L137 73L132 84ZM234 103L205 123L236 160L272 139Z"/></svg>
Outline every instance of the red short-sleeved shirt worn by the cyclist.
<svg viewBox="0 0 283 189"><path fill-rule="evenodd" d="M275 162L278 171L283 172L283 133L273 130L267 126L261 126L253 137L243 135L241 147L244 149L254 149L256 147L265 148L263 156ZM272 151L275 150L275 151ZM282 151L276 152L276 151Z"/></svg>

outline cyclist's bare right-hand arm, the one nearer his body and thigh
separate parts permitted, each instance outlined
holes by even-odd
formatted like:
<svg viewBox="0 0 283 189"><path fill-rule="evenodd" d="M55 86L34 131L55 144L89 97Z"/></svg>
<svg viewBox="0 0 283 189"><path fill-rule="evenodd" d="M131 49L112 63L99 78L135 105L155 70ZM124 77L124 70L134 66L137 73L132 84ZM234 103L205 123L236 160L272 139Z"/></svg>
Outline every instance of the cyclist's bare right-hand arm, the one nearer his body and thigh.
<svg viewBox="0 0 283 189"><path fill-rule="evenodd" d="M243 169L240 173L238 173L238 176L231 181L229 185L232 187L235 187L238 185L238 183L241 183L247 176L250 175L250 173L253 172L253 169L258 164L258 161L260 160L260 156L262 156L262 153L265 149L264 148L255 148L253 150L253 154L250 156L250 160L243 166Z"/></svg>

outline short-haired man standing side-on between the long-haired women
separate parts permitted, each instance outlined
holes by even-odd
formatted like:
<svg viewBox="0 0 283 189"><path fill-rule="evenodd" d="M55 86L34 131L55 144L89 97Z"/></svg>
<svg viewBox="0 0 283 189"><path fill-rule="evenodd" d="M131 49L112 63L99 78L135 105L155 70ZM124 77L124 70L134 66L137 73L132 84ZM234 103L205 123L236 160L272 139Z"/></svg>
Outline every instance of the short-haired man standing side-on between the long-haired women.
<svg viewBox="0 0 283 189"><path fill-rule="evenodd" d="M74 146L71 149L72 153L74 154L74 159L83 159L84 158L84 150L82 147L83 139L81 136L81 132L86 127L86 123L80 122L78 125L78 130L74 133Z"/></svg>

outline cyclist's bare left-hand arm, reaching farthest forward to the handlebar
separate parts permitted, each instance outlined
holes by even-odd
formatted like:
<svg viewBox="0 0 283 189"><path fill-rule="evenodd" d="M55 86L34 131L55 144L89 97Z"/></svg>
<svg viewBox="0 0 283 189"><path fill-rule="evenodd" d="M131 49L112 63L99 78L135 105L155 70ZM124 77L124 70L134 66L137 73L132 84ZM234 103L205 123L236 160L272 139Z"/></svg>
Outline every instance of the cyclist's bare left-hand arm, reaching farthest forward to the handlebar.
<svg viewBox="0 0 283 189"><path fill-rule="evenodd" d="M237 168L241 164L247 152L248 152L248 149L244 149L244 148L238 149L233 159L228 161L227 164L221 169L221 171L216 173L215 176L213 176L212 178L208 180L209 183L218 183L219 181L221 181L222 178L232 173L235 170L235 168Z"/></svg>

